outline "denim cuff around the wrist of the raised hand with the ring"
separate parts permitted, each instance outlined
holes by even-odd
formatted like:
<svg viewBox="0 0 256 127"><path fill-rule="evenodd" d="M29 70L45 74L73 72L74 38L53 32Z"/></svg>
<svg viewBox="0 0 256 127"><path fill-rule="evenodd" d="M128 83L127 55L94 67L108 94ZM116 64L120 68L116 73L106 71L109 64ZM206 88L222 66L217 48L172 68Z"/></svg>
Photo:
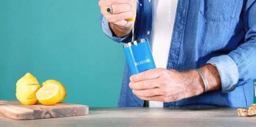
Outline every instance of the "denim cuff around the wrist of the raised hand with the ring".
<svg viewBox="0 0 256 127"><path fill-rule="evenodd" d="M121 43L121 42L124 42L124 41L129 41L129 39L131 39L131 36L132 36L132 32L129 33L129 35L125 36L125 37L122 37L122 38L119 38L119 37L116 37L113 35L113 32L111 31L110 27L109 27L109 22L107 21L107 19L105 18L105 16L102 16L102 20L101 20L101 27L102 27L102 30L103 32L105 32L105 34L112 40L118 42L118 43ZM131 41L131 40L130 40Z"/></svg>

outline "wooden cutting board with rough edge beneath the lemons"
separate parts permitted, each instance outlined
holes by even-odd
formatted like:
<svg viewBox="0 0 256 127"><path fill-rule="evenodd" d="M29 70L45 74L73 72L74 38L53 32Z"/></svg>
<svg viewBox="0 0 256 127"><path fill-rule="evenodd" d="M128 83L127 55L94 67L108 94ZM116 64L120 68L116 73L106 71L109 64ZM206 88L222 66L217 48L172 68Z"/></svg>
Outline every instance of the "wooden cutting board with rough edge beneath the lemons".
<svg viewBox="0 0 256 127"><path fill-rule="evenodd" d="M59 103L53 106L22 105L17 100L0 100L0 116L15 120L34 120L89 114L86 105Z"/></svg>

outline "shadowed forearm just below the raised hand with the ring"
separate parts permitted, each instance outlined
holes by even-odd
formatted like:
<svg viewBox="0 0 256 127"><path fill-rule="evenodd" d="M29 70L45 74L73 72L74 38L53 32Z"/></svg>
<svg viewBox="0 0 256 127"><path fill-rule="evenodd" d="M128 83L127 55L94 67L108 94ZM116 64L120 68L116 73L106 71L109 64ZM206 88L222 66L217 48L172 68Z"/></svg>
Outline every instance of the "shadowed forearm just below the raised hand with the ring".
<svg viewBox="0 0 256 127"><path fill-rule="evenodd" d="M109 23L109 27L115 36L121 38L127 36L132 31L132 27L120 27L114 23Z"/></svg>

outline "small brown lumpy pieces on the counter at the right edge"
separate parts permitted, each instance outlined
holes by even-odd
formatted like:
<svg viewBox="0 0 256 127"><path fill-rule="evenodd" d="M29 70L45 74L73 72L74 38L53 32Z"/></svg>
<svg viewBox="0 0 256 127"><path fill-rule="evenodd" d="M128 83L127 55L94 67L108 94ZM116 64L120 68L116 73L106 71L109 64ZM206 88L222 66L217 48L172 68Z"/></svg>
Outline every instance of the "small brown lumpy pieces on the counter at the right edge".
<svg viewBox="0 0 256 127"><path fill-rule="evenodd" d="M256 115L256 104L252 104L249 109L238 108L237 109L238 116L254 116Z"/></svg>

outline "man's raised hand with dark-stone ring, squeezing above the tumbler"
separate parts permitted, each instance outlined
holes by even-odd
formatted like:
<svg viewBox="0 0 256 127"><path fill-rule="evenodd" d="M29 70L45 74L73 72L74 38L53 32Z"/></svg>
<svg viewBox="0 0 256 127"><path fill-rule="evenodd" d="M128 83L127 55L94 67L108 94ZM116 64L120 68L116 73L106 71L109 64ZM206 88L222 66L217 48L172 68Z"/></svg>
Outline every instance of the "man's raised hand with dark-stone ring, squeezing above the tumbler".
<svg viewBox="0 0 256 127"><path fill-rule="evenodd" d="M134 0L100 0L99 6L102 15L109 22L111 30L117 37L128 35L134 26L134 21L127 21L135 14L133 12L132 2ZM112 8L113 14L107 12L108 7Z"/></svg>

